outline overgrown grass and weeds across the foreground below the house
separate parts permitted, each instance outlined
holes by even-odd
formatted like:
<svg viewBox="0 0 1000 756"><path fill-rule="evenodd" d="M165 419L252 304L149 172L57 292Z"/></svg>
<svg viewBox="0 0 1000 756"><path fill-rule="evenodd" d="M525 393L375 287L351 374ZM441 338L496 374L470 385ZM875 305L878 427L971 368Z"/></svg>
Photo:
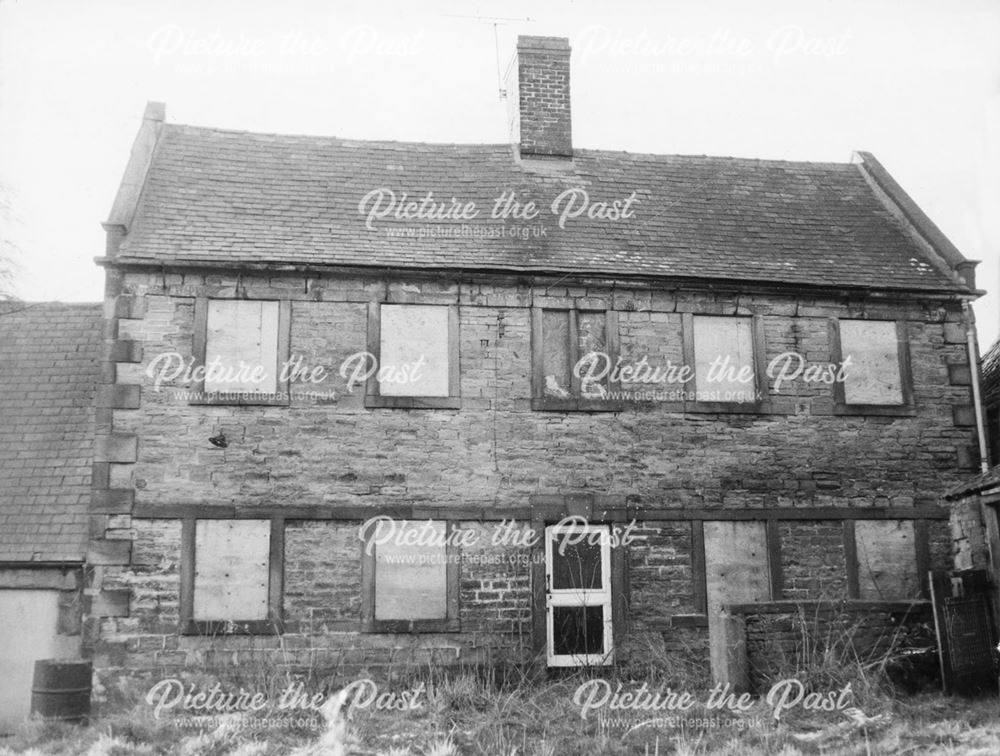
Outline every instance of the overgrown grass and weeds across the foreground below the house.
<svg viewBox="0 0 1000 756"><path fill-rule="evenodd" d="M0 740L0 756L562 756L563 754L870 754L1000 753L1000 711L996 699L969 701L938 693L901 697L888 670L898 646L886 639L876 654L856 642L849 624L831 631L803 618L794 655L770 673L801 680L807 690L840 689L850 683L846 711L791 710L776 719L766 701L745 710L709 709L711 683L703 649L665 646L659 635L637 636L622 645L615 670L579 670L555 677L516 667L441 669L399 673L388 690L423 685L421 705L407 710L338 711L332 695L321 727L253 724L233 715L204 730L182 726L184 716L153 716L136 696L90 727L29 722L14 738ZM251 657L247 657L251 658ZM271 659L272 661L265 661ZM312 690L346 679L342 670L291 668L261 655L227 675L227 689L240 686L276 695L288 682L308 681ZM191 681L206 687L205 674ZM603 707L581 717L574 695L582 684L606 679L611 689L688 691L694 703L683 712L610 711ZM138 692L138 691L137 691ZM142 691L144 692L144 691ZM124 691L119 691L124 695ZM272 705L254 716L286 716ZM619 715L620 718L619 718Z"/></svg>

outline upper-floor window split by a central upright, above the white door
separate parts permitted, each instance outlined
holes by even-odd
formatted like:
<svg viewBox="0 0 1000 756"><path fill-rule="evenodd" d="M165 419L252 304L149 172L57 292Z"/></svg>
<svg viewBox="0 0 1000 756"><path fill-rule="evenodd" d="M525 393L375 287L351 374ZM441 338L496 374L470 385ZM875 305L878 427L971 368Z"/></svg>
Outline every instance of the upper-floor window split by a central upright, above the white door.
<svg viewBox="0 0 1000 756"><path fill-rule="evenodd" d="M609 352L607 313L542 310L544 396L552 399L607 398ZM574 375L581 360L585 362L581 365L580 375ZM595 360L592 371L587 360ZM605 375L602 376L602 373Z"/></svg>

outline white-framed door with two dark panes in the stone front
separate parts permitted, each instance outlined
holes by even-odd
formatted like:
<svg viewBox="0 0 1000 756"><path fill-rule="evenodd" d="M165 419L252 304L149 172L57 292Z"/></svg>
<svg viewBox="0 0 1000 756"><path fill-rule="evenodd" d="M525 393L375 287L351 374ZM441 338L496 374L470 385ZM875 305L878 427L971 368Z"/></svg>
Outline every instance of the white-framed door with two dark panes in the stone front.
<svg viewBox="0 0 1000 756"><path fill-rule="evenodd" d="M550 667L611 664L611 532L545 529L546 658Z"/></svg>

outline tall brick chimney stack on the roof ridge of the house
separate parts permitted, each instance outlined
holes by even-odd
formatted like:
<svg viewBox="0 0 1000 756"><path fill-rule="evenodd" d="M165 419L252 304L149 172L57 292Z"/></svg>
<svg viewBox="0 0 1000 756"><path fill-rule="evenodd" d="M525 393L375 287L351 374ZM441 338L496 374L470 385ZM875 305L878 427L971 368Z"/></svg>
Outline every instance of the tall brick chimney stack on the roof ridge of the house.
<svg viewBox="0 0 1000 756"><path fill-rule="evenodd" d="M511 141L525 157L572 157L569 40L518 37L507 69Z"/></svg>

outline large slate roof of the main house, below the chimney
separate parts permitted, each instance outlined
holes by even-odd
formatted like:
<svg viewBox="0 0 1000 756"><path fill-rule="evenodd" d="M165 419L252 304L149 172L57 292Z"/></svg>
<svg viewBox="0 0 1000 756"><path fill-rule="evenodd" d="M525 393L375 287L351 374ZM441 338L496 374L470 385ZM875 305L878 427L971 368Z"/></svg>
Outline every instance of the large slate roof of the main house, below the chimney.
<svg viewBox="0 0 1000 756"><path fill-rule="evenodd" d="M856 164L576 150L569 170L553 165L526 166L505 144L352 141L164 124L118 258L968 291L946 264L924 256ZM386 218L369 230L359 202L380 187L410 200L432 192L437 201L475 202L479 216L443 223ZM570 187L584 188L591 202L635 192L635 215L619 221L584 215L560 228L549 208ZM463 225L497 232L504 224L490 214L505 191L536 202L539 218L518 223L542 228L544 236L437 233Z"/></svg>

